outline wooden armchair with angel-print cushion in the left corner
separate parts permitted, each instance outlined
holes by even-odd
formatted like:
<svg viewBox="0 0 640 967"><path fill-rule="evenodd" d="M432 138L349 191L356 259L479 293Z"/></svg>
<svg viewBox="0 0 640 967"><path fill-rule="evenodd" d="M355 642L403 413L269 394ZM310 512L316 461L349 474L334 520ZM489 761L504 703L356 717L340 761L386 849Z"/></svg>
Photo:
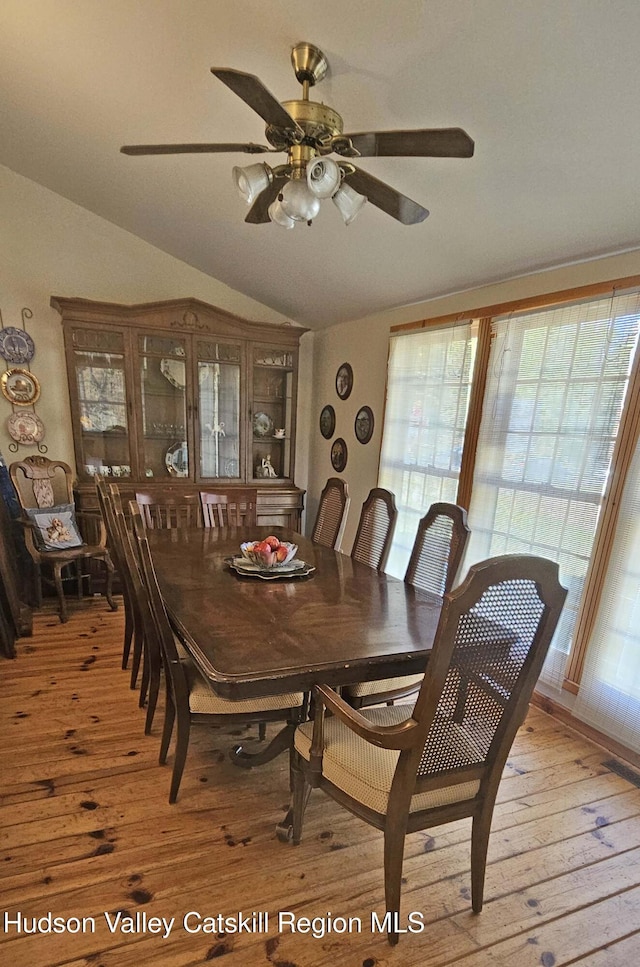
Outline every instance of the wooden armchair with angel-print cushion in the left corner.
<svg viewBox="0 0 640 967"><path fill-rule="evenodd" d="M105 597L112 611L113 562L107 549L107 533L100 514L76 510L71 467L44 456L25 457L9 467L22 516L24 541L37 573L37 607L42 607L42 584L55 588L60 621L68 621L64 580L73 568L78 599L83 595L83 564L101 561L105 567ZM52 578L47 578L47 570Z"/></svg>

